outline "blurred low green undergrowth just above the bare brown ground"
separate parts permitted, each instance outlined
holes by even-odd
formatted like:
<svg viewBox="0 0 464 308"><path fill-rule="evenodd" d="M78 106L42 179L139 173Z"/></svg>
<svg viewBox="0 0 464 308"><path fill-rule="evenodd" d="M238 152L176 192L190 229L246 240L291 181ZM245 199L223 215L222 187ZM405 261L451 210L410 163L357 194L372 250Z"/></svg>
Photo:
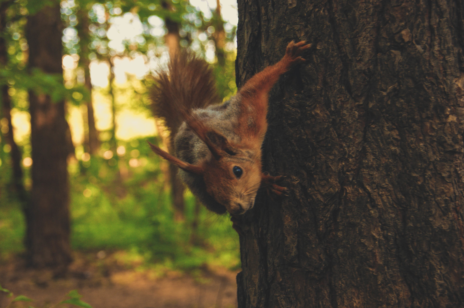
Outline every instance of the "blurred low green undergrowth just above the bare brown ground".
<svg viewBox="0 0 464 308"><path fill-rule="evenodd" d="M84 162L81 151L79 159L69 165L72 248L128 251L131 258L141 258L145 264L181 270L204 264L238 268L238 235L229 217L201 207L195 233L200 240L192 243L194 197L186 193L185 220L175 221L162 172L165 162L151 153L145 140L118 145L126 151L117 160L95 155ZM102 148L103 153L108 145ZM24 217L19 202L7 189L9 173L4 159L0 166L1 258L24 251Z"/></svg>

